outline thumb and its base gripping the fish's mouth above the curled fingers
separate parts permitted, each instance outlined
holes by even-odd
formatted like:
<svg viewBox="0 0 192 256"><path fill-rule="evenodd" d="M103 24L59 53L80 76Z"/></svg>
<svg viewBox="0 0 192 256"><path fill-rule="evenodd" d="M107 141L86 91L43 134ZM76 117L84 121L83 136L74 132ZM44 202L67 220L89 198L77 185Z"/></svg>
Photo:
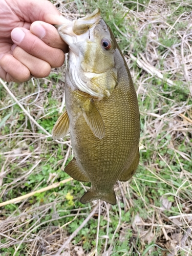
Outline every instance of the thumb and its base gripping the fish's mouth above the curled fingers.
<svg viewBox="0 0 192 256"><path fill-rule="evenodd" d="M64 18L56 7L48 0L16 0L17 15L26 22L33 23L36 20L49 24L64 24L69 20Z"/></svg>

